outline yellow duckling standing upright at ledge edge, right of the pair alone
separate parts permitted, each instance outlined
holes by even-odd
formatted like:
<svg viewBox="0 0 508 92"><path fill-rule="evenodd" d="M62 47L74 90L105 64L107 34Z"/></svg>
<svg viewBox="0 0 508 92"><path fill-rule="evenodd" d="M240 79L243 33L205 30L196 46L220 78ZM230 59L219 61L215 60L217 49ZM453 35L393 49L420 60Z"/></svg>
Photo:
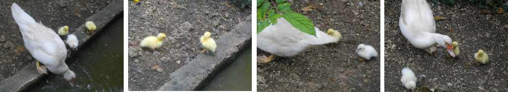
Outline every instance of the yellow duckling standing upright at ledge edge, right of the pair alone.
<svg viewBox="0 0 508 92"><path fill-rule="evenodd" d="M211 33L207 31L199 39L201 41L201 45L203 45L203 47L205 48L203 51L201 51L199 53L206 52L206 54L208 54L208 50L215 52L215 49L217 48L217 44L215 44L215 40L213 40L213 38L210 38L210 35L211 35Z"/></svg>

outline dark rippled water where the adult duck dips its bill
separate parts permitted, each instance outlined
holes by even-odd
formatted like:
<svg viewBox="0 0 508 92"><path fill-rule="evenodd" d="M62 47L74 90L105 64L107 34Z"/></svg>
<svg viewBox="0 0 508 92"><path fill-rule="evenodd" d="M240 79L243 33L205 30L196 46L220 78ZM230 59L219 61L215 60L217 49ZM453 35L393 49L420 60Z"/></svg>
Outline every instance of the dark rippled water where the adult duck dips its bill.
<svg viewBox="0 0 508 92"><path fill-rule="evenodd" d="M84 47L69 68L76 73L73 87L53 74L30 91L123 91L123 18Z"/></svg>

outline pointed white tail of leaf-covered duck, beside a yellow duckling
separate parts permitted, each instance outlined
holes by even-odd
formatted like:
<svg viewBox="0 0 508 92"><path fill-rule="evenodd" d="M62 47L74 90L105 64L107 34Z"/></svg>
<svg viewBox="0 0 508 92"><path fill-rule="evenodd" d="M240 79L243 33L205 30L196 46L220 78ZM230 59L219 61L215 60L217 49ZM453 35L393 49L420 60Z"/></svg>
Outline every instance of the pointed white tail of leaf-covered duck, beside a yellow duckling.
<svg viewBox="0 0 508 92"><path fill-rule="evenodd" d="M308 39L306 43L308 43L308 44L319 45L319 44L336 42L339 40L331 35L326 34L325 32L321 31L317 27L314 27L314 28L316 29L317 38L313 35L306 36L306 38Z"/></svg>

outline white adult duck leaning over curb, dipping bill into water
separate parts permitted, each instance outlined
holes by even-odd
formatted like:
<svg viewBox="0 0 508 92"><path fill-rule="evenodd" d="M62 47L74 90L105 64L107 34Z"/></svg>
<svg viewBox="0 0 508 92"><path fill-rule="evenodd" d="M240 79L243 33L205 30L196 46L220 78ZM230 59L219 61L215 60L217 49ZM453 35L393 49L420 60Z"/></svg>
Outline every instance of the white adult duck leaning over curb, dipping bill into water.
<svg viewBox="0 0 508 92"><path fill-rule="evenodd" d="M12 16L21 30L25 48L37 59L39 73L47 74L47 70L39 66L39 61L46 65L54 74L63 74L63 78L73 86L76 74L65 63L67 50L60 37L52 29L37 23L34 18L26 14L16 3L11 6Z"/></svg>

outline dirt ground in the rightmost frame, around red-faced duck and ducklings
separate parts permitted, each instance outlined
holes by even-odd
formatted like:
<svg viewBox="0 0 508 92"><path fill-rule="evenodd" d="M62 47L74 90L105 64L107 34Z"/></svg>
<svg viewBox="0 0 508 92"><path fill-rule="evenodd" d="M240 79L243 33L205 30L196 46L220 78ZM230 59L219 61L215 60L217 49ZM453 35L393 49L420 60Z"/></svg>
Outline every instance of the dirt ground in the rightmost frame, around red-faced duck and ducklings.
<svg viewBox="0 0 508 92"><path fill-rule="evenodd" d="M385 4L386 91L411 91L400 82L400 71L404 67L415 71L417 89L507 91L506 13L481 14L483 9L461 3L456 6L431 4L434 16L448 18L436 21L436 33L448 35L453 41L459 42L460 58L452 62L447 57L446 49L437 44L437 52L431 55L407 43L398 27L401 1L386 1ZM478 50L487 52L489 63L474 63L473 55Z"/></svg>

